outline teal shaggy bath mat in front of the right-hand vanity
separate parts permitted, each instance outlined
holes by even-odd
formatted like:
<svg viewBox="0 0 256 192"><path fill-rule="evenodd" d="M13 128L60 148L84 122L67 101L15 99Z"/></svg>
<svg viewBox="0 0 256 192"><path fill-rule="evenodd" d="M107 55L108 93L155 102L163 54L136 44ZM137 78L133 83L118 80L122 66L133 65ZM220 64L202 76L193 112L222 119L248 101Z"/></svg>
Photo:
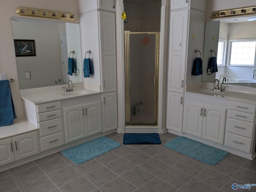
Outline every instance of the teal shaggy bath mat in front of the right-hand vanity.
<svg viewBox="0 0 256 192"><path fill-rule="evenodd" d="M181 136L167 142L164 146L208 165L216 165L228 155L224 150Z"/></svg>

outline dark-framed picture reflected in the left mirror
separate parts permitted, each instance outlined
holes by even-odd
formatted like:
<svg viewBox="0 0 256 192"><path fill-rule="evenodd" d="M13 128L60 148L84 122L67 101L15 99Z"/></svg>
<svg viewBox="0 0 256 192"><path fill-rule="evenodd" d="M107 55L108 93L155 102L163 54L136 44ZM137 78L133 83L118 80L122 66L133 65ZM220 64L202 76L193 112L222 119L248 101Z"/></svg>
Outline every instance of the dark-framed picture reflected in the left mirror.
<svg viewBox="0 0 256 192"><path fill-rule="evenodd" d="M35 40L14 39L16 57L36 56Z"/></svg>

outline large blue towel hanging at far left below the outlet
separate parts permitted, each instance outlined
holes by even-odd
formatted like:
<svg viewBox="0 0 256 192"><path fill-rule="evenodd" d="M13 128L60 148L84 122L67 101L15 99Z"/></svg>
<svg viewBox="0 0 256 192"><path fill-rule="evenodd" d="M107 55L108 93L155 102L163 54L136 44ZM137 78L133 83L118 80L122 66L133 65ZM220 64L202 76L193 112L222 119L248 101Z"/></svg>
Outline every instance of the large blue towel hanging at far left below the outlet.
<svg viewBox="0 0 256 192"><path fill-rule="evenodd" d="M9 80L0 80L0 126L12 125L17 118Z"/></svg>

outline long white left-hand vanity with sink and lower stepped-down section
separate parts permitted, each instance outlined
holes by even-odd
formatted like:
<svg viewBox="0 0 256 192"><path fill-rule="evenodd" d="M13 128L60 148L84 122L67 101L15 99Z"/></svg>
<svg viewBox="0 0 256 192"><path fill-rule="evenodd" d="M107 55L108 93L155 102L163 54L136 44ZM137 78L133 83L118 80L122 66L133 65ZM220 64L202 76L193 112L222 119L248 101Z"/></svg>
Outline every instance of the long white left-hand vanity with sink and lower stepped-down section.
<svg viewBox="0 0 256 192"><path fill-rule="evenodd" d="M55 91L23 91L26 120L6 126L1 134L1 169L11 162L24 164L116 131L116 92L102 94L84 89L83 84L76 86L72 92L60 90L61 86Z"/></svg>

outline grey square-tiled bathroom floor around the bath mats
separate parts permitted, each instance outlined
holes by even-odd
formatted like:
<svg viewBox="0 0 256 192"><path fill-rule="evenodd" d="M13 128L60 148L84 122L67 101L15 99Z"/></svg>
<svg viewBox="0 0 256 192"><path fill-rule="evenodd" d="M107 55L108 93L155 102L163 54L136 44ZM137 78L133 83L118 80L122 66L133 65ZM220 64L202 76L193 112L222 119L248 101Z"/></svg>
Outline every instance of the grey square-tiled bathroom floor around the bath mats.
<svg viewBox="0 0 256 192"><path fill-rule="evenodd" d="M123 134L108 137L123 140ZM229 154L209 166L164 147L175 137L160 134L161 145L122 145L83 164L58 152L0 172L0 192L232 192L233 183L256 183L256 160Z"/></svg>

